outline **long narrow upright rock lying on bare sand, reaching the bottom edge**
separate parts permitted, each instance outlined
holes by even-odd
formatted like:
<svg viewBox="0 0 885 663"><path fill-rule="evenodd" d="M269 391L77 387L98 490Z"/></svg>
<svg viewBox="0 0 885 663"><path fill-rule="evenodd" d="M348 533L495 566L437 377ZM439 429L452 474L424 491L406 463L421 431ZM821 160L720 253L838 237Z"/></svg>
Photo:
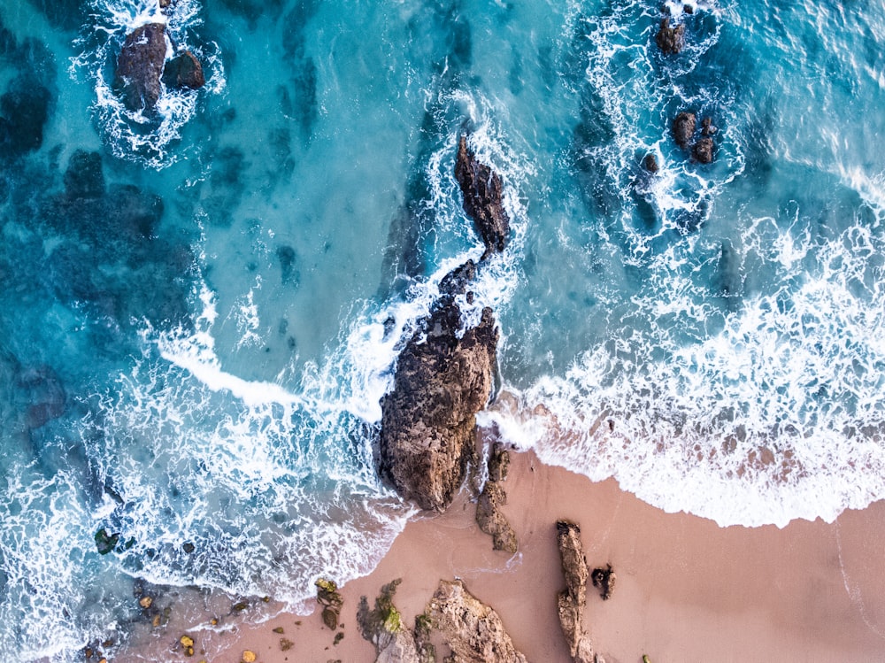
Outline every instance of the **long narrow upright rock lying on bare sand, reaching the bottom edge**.
<svg viewBox="0 0 885 663"><path fill-rule="evenodd" d="M589 571L581 545L581 528L573 522L559 520L556 532L562 573L566 576L566 590L559 592L557 601L559 623L574 663L597 663L583 625Z"/></svg>

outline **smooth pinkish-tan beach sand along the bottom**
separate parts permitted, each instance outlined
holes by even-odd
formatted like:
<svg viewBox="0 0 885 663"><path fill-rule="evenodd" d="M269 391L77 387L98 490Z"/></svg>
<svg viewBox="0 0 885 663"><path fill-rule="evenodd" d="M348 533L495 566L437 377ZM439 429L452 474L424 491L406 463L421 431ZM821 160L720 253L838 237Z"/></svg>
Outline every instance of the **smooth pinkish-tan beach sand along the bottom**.
<svg viewBox="0 0 885 663"><path fill-rule="evenodd" d="M563 518L581 525L589 565L611 563L618 576L608 601L589 586L585 615L596 650L609 661L638 663L643 654L653 663L885 660L885 502L833 524L719 528L663 513L613 481L543 466L531 452L512 454L504 488L505 513L519 536L516 556L491 550L462 493L448 513L412 520L372 574L342 588L339 644L314 611L203 642L197 636L190 660L220 648L202 658L237 663L248 649L260 663L373 661L372 645L358 633L359 597L371 602L381 585L403 578L396 605L412 625L437 582L455 576L495 608L529 660L565 662L555 610L564 582L554 522ZM286 651L282 638L292 643Z"/></svg>

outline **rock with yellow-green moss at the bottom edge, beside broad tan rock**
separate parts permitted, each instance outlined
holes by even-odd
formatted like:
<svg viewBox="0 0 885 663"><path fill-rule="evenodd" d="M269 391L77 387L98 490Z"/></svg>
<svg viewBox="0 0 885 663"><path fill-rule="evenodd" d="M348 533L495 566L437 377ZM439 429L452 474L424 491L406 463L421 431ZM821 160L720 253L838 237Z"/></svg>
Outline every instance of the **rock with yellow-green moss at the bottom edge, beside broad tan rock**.
<svg viewBox="0 0 885 663"><path fill-rule="evenodd" d="M384 585L371 610L366 597L360 598L357 611L359 632L375 645L375 663L422 663L434 660L429 648L419 647L415 642L412 631L405 628L402 615L393 605L396 586L400 582L397 579Z"/></svg>

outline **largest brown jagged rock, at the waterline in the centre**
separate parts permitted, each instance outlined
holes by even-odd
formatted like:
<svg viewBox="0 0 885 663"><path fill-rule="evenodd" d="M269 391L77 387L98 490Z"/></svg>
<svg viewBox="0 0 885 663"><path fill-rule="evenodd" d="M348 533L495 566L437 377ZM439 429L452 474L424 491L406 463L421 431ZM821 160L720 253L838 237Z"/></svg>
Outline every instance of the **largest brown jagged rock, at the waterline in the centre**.
<svg viewBox="0 0 885 663"><path fill-rule="evenodd" d="M443 512L475 455L476 412L489 401L498 332L491 309L458 338L461 315L442 297L406 345L381 401L381 476L422 509Z"/></svg>

